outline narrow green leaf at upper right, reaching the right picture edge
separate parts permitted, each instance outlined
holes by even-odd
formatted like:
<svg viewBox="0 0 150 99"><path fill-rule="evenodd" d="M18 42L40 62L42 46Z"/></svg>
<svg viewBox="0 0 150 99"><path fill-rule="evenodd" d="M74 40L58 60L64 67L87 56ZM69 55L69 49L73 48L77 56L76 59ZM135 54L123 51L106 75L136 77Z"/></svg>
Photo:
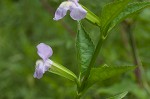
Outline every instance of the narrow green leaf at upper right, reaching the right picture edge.
<svg viewBox="0 0 150 99"><path fill-rule="evenodd" d="M132 14L137 13L138 11L144 9L145 7L150 6L150 2L135 2L129 4L112 22L111 27L109 29L112 30L112 28L120 23L125 18L131 16Z"/></svg>

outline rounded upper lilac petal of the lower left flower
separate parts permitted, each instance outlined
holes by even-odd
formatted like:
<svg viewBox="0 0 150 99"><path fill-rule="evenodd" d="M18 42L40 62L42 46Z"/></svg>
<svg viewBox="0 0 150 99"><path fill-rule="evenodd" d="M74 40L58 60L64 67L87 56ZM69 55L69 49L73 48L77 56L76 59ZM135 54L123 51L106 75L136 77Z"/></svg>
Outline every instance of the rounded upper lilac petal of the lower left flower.
<svg viewBox="0 0 150 99"><path fill-rule="evenodd" d="M44 60L46 61L50 56L52 56L53 54L53 50L50 46L44 44L44 43L40 43L37 46L37 53L38 55Z"/></svg>

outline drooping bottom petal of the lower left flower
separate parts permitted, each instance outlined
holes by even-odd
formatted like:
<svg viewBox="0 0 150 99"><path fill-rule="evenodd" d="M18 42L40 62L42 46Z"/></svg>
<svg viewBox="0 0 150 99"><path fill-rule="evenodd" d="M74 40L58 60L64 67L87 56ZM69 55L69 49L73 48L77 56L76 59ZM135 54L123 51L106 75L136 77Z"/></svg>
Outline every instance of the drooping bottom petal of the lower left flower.
<svg viewBox="0 0 150 99"><path fill-rule="evenodd" d="M34 72L34 78L42 78L43 77L43 74L45 73L45 67L44 67L44 63L43 61L37 61L36 63L36 69L35 69L35 72Z"/></svg>

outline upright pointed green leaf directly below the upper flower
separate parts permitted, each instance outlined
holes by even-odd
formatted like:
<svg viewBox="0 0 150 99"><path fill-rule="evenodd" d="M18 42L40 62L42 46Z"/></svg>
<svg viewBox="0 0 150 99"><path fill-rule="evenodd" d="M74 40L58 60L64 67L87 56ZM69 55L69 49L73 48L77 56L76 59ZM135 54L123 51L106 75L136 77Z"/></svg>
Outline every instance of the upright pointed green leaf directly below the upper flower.
<svg viewBox="0 0 150 99"><path fill-rule="evenodd" d="M81 74L83 74L90 64L90 60L94 52L94 44L80 22L78 22L76 47L78 52L80 71Z"/></svg>

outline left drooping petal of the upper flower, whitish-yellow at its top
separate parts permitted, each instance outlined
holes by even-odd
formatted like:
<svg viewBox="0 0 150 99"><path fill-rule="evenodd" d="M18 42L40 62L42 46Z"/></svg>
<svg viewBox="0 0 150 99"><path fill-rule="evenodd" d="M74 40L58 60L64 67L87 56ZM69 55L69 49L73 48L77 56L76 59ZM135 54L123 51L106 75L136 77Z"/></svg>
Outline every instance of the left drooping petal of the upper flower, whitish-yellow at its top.
<svg viewBox="0 0 150 99"><path fill-rule="evenodd" d="M60 6L57 8L55 12L55 17L53 19L54 20L62 19L69 10L71 3L72 3L71 1L62 2Z"/></svg>

